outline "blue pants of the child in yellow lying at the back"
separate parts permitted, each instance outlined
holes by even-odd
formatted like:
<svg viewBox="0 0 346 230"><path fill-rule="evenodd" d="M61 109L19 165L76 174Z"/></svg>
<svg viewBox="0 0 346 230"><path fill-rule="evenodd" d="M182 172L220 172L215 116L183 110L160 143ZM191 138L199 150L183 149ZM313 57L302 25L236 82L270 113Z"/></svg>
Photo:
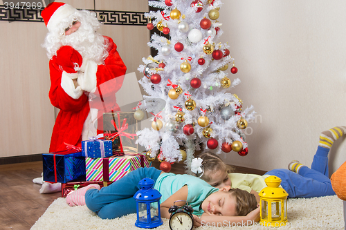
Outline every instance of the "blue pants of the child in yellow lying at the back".
<svg viewBox="0 0 346 230"><path fill-rule="evenodd" d="M281 186L289 193L289 198L335 195L328 175L328 153L329 148L318 146L311 169L302 166L299 174L288 169L274 169L266 174L276 175L282 180Z"/></svg>

